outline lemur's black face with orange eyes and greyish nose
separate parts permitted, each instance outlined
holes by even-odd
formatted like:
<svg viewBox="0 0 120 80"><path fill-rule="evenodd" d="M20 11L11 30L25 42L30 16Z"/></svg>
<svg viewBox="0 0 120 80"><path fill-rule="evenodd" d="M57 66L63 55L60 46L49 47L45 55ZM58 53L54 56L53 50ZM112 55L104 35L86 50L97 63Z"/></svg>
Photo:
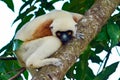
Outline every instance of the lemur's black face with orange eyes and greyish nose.
<svg viewBox="0 0 120 80"><path fill-rule="evenodd" d="M73 31L57 31L56 36L62 41L63 44L65 44L73 37Z"/></svg>

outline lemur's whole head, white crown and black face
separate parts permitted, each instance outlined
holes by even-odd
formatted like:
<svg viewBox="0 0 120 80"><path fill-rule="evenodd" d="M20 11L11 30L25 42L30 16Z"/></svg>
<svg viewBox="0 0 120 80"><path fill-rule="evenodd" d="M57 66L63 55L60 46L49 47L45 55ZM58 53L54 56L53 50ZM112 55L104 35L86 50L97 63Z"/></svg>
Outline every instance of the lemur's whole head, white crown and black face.
<svg viewBox="0 0 120 80"><path fill-rule="evenodd" d="M56 24L57 23L57 24ZM67 24L66 24L67 23ZM70 19L64 19L61 21L54 20L51 24L51 31L54 36L57 36L63 44L70 41L76 34L76 22Z"/></svg>

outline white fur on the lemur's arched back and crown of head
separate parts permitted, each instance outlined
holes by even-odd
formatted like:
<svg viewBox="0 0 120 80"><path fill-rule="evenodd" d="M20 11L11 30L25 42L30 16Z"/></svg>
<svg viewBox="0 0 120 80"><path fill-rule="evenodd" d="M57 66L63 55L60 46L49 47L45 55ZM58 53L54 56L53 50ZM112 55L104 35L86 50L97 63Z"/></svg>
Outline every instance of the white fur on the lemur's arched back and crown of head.
<svg viewBox="0 0 120 80"><path fill-rule="evenodd" d="M50 26L53 26L52 33L55 36L55 31L58 30L73 30L74 35L76 34L76 22L73 20L73 17L76 17L78 20L82 18L82 15L77 13L70 13L63 10L54 10L48 14L39 16L34 20L26 23L16 34L16 39L20 40L29 40L32 38L32 34L39 25L47 20L53 20L53 23Z"/></svg>

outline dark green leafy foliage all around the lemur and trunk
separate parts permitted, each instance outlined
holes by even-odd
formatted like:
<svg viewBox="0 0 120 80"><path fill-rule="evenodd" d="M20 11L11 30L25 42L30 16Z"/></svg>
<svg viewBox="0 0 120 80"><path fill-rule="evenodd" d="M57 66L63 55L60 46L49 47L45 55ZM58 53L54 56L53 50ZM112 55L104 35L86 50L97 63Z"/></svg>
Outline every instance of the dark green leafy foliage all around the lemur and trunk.
<svg viewBox="0 0 120 80"><path fill-rule="evenodd" d="M13 25L19 21L15 33L28 21L34 19L37 16L49 12L55 7L54 3L62 0L22 0L23 5L20 7L18 16L13 21ZM14 3L12 0L1 0L9 9L15 11ZM62 6L63 10L84 14L93 4L95 0L68 0ZM80 56L80 59L71 67L65 76L67 79L75 80L107 80L108 77L115 72L119 62L112 63L107 66L107 62L110 59L111 54L119 54L112 51L113 48L120 46L120 7L117 7L118 13L111 16L108 22L102 28L102 31L95 37L94 40L88 45L84 54ZM14 36L13 36L14 38ZM15 59L13 51L13 39L0 49L0 80L8 80L10 77L17 74L20 70L20 66ZM19 45L19 43L18 43ZM105 52L106 55L101 59L101 52ZM8 56L11 59L8 59ZM94 74L94 69L89 66L92 63L99 65L98 73ZM93 64L94 66L94 64ZM120 67L120 66L119 66ZM94 67L96 68L96 67ZM24 71L23 76L28 80L28 72ZM23 77L19 75L16 80L22 80ZM120 78L119 78L120 80Z"/></svg>

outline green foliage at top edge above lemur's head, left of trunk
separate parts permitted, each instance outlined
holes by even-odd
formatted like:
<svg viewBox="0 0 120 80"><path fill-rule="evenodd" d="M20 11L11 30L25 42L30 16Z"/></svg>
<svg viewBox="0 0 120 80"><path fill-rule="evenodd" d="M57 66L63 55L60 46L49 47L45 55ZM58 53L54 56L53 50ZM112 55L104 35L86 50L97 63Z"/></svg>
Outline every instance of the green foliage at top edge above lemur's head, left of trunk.
<svg viewBox="0 0 120 80"><path fill-rule="evenodd" d="M62 9L84 14L93 5L94 1L95 0L70 0L64 3Z"/></svg>

